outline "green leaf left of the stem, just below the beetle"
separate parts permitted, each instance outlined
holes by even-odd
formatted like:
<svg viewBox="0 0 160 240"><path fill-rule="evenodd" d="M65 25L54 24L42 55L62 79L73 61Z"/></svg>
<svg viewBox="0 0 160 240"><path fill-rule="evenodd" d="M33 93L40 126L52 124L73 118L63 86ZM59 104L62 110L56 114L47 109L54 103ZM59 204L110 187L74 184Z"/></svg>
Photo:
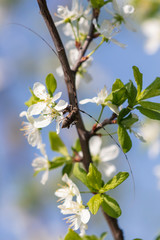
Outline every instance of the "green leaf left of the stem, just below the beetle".
<svg viewBox="0 0 160 240"><path fill-rule="evenodd" d="M64 156L68 156L68 150L62 140L60 139L59 135L56 132L49 133L49 140L51 149L55 152L59 152Z"/></svg>

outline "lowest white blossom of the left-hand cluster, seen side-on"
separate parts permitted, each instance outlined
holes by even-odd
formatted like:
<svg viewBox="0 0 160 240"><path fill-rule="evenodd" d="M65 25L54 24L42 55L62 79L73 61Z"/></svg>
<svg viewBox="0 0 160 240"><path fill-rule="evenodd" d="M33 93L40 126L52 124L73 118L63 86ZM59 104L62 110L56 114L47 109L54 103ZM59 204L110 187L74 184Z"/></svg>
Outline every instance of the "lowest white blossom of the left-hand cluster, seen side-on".
<svg viewBox="0 0 160 240"><path fill-rule="evenodd" d="M41 145L40 151L42 153L42 156L38 156L33 160L32 167L34 167L35 171L44 171L41 179L41 183L44 185L48 180L50 164L44 144Z"/></svg>

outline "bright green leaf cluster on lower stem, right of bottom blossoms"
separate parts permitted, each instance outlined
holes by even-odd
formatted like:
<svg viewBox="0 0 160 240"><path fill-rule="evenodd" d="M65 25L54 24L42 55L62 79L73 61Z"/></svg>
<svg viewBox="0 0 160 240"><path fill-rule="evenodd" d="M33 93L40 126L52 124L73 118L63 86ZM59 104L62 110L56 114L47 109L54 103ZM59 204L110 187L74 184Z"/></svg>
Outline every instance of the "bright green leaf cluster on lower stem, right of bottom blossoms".
<svg viewBox="0 0 160 240"><path fill-rule="evenodd" d="M106 192L124 182L128 178L129 173L119 172L107 183L104 183L101 173L93 164L90 164L89 172L86 173L85 170L80 168L79 164L76 163L73 174L94 193L94 196L87 203L92 214L95 215L101 206L104 212L113 218L118 218L121 215L119 204L114 198L107 195Z"/></svg>

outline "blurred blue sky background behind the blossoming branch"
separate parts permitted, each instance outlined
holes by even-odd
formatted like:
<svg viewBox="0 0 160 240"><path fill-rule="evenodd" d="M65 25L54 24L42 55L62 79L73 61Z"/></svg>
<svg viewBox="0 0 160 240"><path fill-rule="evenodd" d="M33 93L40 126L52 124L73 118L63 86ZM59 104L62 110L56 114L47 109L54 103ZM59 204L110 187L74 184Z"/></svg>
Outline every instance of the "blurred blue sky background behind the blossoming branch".
<svg viewBox="0 0 160 240"><path fill-rule="evenodd" d="M93 81L81 83L78 89L79 99L95 96L104 84L110 90L116 78L123 82L133 80L133 65L138 66L143 73L144 87L160 76L160 51L158 48L152 54L145 51L146 36L141 31L141 21L145 17L157 17L160 3L135 2L139 9L137 31L122 28L117 39L127 44L126 49L110 44L104 45L95 53L89 69ZM70 5L71 1L49 0L53 16L58 4ZM147 11L149 14L145 16ZM19 113L27 109L24 102L30 97L29 87L36 81L44 83L48 73L56 76L58 60L40 38L13 23L32 28L52 44L36 0L0 0L0 239L58 240L67 232L67 224L62 220L64 216L60 214L54 196L57 184L61 182L61 169L51 172L49 181L42 186L40 174L33 177L31 166L38 152L28 145L19 130L22 122ZM58 91L62 91L63 99L68 100L63 79L58 76L57 79ZM157 101L159 100L158 97ZM95 113L93 107L92 104L87 104L83 109L97 117L100 110L97 108ZM93 124L86 116L84 120L88 126ZM55 131L55 126L44 129L43 139L49 158L53 158L55 153L50 150L49 130ZM76 139L74 127L62 130L60 136L70 147ZM122 208L119 224L124 230L125 239L156 239L160 233L160 190L153 169L159 164L159 155L149 157L149 146L140 143L134 135L132 140L133 148L128 153L128 158L134 174L135 196L131 179L111 194ZM107 142L111 142L108 137L104 139L104 146ZM123 154L115 160L115 164L118 171L129 171ZM87 234L100 235L103 231L109 232L109 229L99 211L89 222ZM110 233L107 239L112 239Z"/></svg>

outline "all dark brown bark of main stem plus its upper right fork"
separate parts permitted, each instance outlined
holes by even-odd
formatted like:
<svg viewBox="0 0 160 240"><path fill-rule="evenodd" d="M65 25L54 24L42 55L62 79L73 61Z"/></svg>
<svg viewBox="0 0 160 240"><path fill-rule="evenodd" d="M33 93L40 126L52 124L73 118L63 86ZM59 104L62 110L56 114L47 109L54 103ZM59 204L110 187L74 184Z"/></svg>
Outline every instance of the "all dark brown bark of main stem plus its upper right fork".
<svg viewBox="0 0 160 240"><path fill-rule="evenodd" d="M56 26L54 24L54 21L50 15L50 12L48 10L47 7L47 3L46 0L37 0L38 5L39 5L39 9L40 9L40 13L43 16L43 19L47 25L47 28L50 32L50 35L52 37L52 40L54 42L59 60L61 62L62 65L62 69L63 69L63 73L64 73L64 79L65 79L65 83L67 86L67 91L68 91L68 96L69 96L69 102L72 106L74 107L78 107L78 101L77 101L77 94L76 94L76 89L75 89L75 74L78 71L78 68L81 65L81 58L84 56L85 52L87 51L87 48L89 46L89 44L91 43L92 39L93 39L93 33L94 33L94 25L91 22L91 26L90 26L90 30L89 30L89 34L88 37L83 45L83 48L80 52L79 58L75 64L75 66L73 67L73 69L71 70L67 56L66 56L66 52L63 46L63 43L61 41L61 38L59 36L59 33L56 29ZM93 10L93 17L98 18L99 12L94 9ZM83 164L84 167L86 169L86 171L88 171L89 168L89 164L92 162L91 159L91 155L90 155L90 151L89 151L89 136L90 134L86 131L82 118L80 116L80 113L78 111L78 121L76 123L76 128L77 128L77 132L79 135L79 139L80 139L80 143L81 143L81 148L82 148L82 152L83 152ZM123 233L122 230L119 228L118 226L118 222L117 219L111 218L109 217L106 213L104 213L104 216L110 226L110 229L112 231L113 237L115 240L123 240ZM119 238L118 238L119 237ZM121 237L121 238L120 238Z"/></svg>

